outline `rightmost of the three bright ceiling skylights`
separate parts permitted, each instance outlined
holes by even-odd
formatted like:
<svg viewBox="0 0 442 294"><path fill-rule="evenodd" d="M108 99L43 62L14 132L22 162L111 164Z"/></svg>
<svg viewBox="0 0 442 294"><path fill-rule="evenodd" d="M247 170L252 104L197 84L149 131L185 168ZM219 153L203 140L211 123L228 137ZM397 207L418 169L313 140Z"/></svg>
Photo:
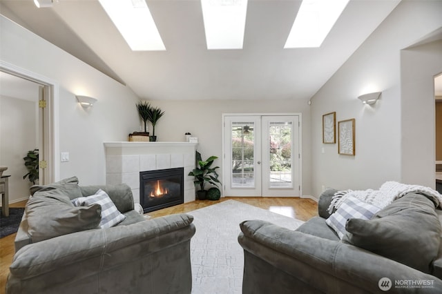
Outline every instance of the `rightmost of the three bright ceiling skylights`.
<svg viewBox="0 0 442 294"><path fill-rule="evenodd" d="M284 48L320 47L349 0L303 0Z"/></svg>

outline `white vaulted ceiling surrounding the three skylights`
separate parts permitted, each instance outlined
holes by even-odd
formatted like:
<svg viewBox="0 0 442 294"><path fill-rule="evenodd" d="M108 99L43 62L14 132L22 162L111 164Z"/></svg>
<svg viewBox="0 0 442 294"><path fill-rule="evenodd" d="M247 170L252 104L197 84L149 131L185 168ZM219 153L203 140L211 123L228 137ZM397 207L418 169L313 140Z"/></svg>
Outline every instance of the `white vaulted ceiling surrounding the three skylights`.
<svg viewBox="0 0 442 294"><path fill-rule="evenodd" d="M207 50L199 0L147 0L165 51L132 51L97 0L0 13L142 99L309 99L400 0L351 0L320 48L284 49L300 0L249 0L242 50Z"/></svg>

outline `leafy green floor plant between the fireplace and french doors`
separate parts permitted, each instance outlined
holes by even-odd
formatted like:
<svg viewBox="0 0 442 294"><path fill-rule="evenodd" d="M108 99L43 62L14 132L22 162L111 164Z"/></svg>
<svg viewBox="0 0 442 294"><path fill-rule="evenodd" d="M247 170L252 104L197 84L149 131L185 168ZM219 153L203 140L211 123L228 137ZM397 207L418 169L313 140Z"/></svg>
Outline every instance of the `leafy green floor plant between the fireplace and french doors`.
<svg viewBox="0 0 442 294"><path fill-rule="evenodd" d="M200 187L200 189L197 190L198 199L200 200L206 199L207 191L204 190L204 187L207 183L214 186L221 184L220 180L218 179L218 173L216 172L216 169L220 167L211 167L215 159L218 159L218 157L211 156L206 160L202 160L201 153L198 151L196 152L196 161L198 166L193 168L189 175L195 177L193 184Z"/></svg>

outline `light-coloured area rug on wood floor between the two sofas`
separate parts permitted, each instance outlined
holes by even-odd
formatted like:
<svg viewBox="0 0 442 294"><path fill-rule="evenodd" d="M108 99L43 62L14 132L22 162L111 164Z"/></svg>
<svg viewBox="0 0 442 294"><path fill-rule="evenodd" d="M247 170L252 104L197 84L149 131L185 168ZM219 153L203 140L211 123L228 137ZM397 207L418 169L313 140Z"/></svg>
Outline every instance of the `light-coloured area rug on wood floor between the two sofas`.
<svg viewBox="0 0 442 294"><path fill-rule="evenodd" d="M244 252L238 243L240 222L262 219L295 230L303 222L269 210L227 200L193 210L196 233L191 239L192 293L242 293Z"/></svg>

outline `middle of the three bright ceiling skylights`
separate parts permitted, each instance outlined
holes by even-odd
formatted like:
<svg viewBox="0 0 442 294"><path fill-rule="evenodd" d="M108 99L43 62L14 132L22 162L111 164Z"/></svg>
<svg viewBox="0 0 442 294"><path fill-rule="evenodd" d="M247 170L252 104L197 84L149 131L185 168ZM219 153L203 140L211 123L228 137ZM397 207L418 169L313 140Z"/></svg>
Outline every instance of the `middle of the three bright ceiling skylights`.
<svg viewBox="0 0 442 294"><path fill-rule="evenodd" d="M242 49L247 0L201 0L207 49Z"/></svg>

